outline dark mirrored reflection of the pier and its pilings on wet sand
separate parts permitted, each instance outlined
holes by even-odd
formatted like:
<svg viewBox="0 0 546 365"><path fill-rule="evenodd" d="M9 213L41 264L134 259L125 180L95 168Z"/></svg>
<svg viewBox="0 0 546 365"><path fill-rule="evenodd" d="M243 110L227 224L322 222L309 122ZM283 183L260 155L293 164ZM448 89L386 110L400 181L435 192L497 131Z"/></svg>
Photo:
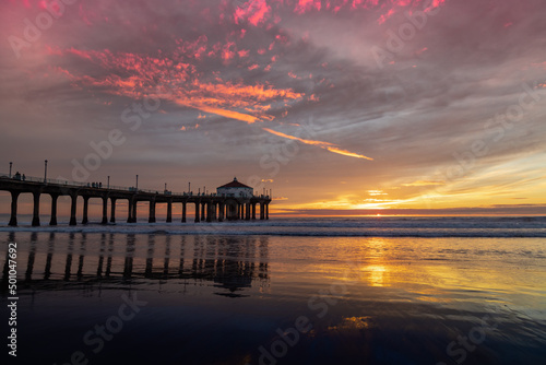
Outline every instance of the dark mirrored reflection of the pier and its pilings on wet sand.
<svg viewBox="0 0 546 365"><path fill-rule="evenodd" d="M85 285L128 284L139 279L212 282L214 294L244 296L252 281L268 285L268 237L170 236L134 234L38 233L29 235L20 289L70 290ZM68 239L67 239L68 238ZM98 239L97 239L98 238ZM10 242L15 242L14 233ZM38 242L39 240L39 242ZM20 246L21 247L21 246ZM26 249L25 249L26 251ZM24 251L21 251L24 252ZM23 266L25 267L23 270ZM2 289L8 287L4 256ZM21 276L21 275L20 275Z"/></svg>

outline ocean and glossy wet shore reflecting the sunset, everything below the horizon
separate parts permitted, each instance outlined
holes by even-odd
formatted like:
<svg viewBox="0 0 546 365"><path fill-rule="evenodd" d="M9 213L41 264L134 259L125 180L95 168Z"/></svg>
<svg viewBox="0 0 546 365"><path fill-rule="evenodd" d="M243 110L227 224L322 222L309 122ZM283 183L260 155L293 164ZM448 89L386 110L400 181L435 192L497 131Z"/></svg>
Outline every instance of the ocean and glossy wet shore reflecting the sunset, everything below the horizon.
<svg viewBox="0 0 546 365"><path fill-rule="evenodd" d="M546 358L543 216L20 221L0 223L10 364Z"/></svg>

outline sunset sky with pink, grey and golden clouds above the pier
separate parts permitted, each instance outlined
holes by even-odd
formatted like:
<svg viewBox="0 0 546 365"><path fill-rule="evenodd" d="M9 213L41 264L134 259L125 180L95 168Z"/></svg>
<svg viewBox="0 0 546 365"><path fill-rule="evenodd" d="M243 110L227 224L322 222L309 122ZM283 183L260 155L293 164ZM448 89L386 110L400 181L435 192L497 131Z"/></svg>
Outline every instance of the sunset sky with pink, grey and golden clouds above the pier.
<svg viewBox="0 0 546 365"><path fill-rule="evenodd" d="M543 0L0 8L0 173L236 176L272 214L546 213Z"/></svg>

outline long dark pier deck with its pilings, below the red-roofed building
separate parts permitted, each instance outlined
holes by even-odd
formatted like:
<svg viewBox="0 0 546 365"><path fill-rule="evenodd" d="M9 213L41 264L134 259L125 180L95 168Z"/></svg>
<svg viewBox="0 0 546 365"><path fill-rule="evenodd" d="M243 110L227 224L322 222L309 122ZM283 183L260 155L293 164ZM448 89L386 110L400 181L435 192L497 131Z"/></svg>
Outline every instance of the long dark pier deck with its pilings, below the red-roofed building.
<svg viewBox="0 0 546 365"><path fill-rule="evenodd" d="M116 204L119 200L128 201L128 223L136 223L136 204L141 201L149 202L149 223L155 223L155 209L157 204L167 204L166 223L173 222L173 209L177 205L181 209L181 222L186 223L188 204L193 204L194 222L223 222L237 220L257 220L259 212L260 220L269 220L269 204L271 197L266 195L237 197L218 193L198 193L171 191L156 191L138 189L135 187L112 187L96 186L88 182L73 182L56 179L11 176L0 174L0 190L11 193L10 226L17 225L17 199L22 193L33 195L33 226L39 226L40 220L40 196L51 197L51 213L49 225L57 225L57 201L61 196L71 198L70 225L78 224L78 198L83 198L83 217L81 223L88 223L88 201L90 199L102 199L103 219L102 224L116 222ZM110 201L108 216L108 200Z"/></svg>

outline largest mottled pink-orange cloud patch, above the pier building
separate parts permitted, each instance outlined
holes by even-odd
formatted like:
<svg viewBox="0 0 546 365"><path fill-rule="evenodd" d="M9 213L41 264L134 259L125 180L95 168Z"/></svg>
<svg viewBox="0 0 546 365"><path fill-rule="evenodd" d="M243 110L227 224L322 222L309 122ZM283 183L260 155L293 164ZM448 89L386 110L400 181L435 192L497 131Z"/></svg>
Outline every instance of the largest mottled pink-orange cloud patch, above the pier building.
<svg viewBox="0 0 546 365"><path fill-rule="evenodd" d="M247 123L273 120L274 117L266 115L265 111L271 109L274 102L287 104L304 98L305 94L296 93L292 89L275 89L270 84L260 83L248 85L241 79L237 82L224 81L219 72L206 75L209 79L206 82L201 81L203 75L199 73L195 64L179 62L178 59L194 57L195 48L203 48L203 42L206 39L200 38L193 43L179 42L178 49L170 57L74 48L49 49L49 54L82 58L109 71L104 76L94 78L73 74L60 68L55 69L75 85L98 87L106 93L132 98L158 97ZM224 54L221 57L224 60L230 59L232 52L235 55L236 50L234 43L227 43L224 47L214 45L213 48L223 49ZM187 55L182 55L185 52Z"/></svg>

